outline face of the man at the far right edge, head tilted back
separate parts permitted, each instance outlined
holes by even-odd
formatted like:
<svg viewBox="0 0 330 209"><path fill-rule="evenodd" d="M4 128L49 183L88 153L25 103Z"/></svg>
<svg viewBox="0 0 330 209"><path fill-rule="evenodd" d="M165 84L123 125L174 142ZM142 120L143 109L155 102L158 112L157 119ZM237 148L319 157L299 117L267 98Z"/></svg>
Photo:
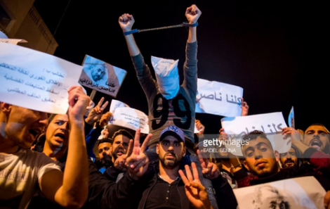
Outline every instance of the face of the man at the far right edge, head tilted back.
<svg viewBox="0 0 330 209"><path fill-rule="evenodd" d="M303 143L324 153L329 153L329 131L323 125L310 125L305 130Z"/></svg>

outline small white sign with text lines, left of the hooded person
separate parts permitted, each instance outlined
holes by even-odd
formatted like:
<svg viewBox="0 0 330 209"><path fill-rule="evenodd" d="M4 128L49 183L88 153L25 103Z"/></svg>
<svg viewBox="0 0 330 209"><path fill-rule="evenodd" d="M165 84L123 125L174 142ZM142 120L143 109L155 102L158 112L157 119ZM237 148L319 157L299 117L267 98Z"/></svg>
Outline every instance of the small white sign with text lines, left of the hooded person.
<svg viewBox="0 0 330 209"><path fill-rule="evenodd" d="M110 121L113 125L127 127L136 130L141 129L141 133L149 134L148 117L140 110L134 108L116 108L114 120Z"/></svg>

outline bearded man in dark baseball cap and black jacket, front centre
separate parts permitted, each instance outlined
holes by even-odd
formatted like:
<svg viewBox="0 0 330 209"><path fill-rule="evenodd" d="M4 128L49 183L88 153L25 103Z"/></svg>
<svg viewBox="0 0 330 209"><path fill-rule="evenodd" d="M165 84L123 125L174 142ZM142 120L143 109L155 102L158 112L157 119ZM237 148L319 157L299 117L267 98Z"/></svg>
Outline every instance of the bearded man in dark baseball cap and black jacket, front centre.
<svg viewBox="0 0 330 209"><path fill-rule="evenodd" d="M187 198L185 189L191 185L185 185L187 178L183 172L181 172L183 179L179 175L180 161L185 156L185 151L185 137L181 129L172 125L161 131L156 148L159 163L153 164L145 175L147 184L142 197L139 198L138 208L196 208L197 202L202 203L204 208L211 208L206 189L196 175L197 167L194 163L192 163L192 171L194 179L199 182L199 194L204 194L206 198L202 198L203 196ZM190 171L187 172L187 177L192 178Z"/></svg>

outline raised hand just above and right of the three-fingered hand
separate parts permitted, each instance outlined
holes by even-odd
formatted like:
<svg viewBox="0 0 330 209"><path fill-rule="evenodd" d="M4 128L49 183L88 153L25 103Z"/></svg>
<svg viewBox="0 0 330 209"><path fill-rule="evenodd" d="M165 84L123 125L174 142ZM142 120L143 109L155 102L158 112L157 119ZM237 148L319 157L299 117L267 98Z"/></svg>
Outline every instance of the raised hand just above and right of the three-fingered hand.
<svg viewBox="0 0 330 209"><path fill-rule="evenodd" d="M215 163L209 162L209 159L206 157L206 155L200 152L198 149L197 156L199 158L199 162L201 162L202 174L204 177L208 179L216 179L220 175L218 166Z"/></svg>

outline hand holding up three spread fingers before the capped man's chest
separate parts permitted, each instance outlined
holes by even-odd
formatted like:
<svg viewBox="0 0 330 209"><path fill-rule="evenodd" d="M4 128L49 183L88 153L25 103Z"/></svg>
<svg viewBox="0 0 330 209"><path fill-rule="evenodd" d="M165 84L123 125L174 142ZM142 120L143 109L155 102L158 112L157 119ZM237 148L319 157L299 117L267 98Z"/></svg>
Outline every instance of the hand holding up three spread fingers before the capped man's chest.
<svg viewBox="0 0 330 209"><path fill-rule="evenodd" d="M192 163L192 172L190 171L190 167L185 165L185 172L187 177L183 173L183 170L179 170L179 175L185 184L185 194L190 203L192 203L195 208L212 208L209 195L199 180L196 165Z"/></svg>

